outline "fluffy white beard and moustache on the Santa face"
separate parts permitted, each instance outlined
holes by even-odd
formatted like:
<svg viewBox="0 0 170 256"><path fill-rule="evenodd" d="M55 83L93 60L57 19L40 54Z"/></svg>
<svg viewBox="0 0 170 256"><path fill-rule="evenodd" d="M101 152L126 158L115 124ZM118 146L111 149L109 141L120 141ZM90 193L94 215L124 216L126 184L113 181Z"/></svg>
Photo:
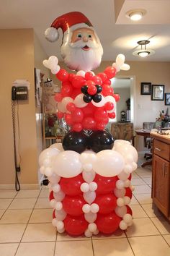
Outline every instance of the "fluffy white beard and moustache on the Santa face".
<svg viewBox="0 0 170 256"><path fill-rule="evenodd" d="M66 35L64 39L67 37ZM84 51L82 48L88 46L90 49ZM99 67L102 61L103 48L101 43L89 40L85 43L79 40L76 43L70 43L65 39L61 46L61 55L67 67L72 70L84 70L85 72Z"/></svg>

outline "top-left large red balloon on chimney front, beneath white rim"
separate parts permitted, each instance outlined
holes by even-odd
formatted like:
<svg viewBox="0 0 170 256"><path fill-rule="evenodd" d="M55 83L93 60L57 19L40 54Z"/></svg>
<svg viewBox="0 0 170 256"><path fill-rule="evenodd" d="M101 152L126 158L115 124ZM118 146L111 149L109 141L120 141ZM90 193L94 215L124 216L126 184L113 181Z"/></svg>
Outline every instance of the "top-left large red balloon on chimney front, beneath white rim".
<svg viewBox="0 0 170 256"><path fill-rule="evenodd" d="M73 178L61 178L61 189L66 195L79 195L81 194L80 186L84 182L82 174Z"/></svg>

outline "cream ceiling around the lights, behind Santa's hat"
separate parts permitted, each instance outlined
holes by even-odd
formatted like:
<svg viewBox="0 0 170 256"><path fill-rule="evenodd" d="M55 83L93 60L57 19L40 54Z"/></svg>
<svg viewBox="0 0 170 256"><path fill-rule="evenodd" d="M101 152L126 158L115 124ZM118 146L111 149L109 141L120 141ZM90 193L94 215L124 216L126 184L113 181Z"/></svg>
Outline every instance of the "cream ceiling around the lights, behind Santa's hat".
<svg viewBox="0 0 170 256"><path fill-rule="evenodd" d="M44 31L58 16L79 11L89 18L104 48L102 60L115 61L125 54L127 61L170 61L169 0L0 0L0 28L30 28L45 52L61 59L61 38L55 43L45 40ZM125 13L130 9L146 9L141 22L132 22ZM138 40L150 40L147 46L156 53L140 58Z"/></svg>

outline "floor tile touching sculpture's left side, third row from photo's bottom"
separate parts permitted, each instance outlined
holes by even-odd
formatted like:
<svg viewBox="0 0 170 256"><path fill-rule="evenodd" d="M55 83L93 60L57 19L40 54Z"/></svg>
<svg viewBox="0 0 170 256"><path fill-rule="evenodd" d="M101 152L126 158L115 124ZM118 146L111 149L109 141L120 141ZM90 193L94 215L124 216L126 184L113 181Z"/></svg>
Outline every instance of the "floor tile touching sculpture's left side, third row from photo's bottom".
<svg viewBox="0 0 170 256"><path fill-rule="evenodd" d="M34 209L29 223L51 223L53 209Z"/></svg>

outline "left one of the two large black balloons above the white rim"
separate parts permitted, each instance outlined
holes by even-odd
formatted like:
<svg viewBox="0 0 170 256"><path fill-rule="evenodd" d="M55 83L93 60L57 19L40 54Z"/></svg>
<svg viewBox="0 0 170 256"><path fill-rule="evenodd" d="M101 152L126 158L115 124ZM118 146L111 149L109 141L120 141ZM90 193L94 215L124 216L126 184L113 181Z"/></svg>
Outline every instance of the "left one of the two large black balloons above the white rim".
<svg viewBox="0 0 170 256"><path fill-rule="evenodd" d="M63 138L63 149L82 153L86 149L87 140L84 132L68 132Z"/></svg>

